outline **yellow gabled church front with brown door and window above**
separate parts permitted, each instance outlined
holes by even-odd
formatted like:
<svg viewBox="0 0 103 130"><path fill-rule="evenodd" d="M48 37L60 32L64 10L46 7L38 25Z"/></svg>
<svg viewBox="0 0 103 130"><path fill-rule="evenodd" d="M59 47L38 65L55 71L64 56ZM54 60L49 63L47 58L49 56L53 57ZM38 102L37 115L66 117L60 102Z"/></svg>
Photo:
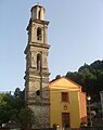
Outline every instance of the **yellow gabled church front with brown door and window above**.
<svg viewBox="0 0 103 130"><path fill-rule="evenodd" d="M67 125L70 128L79 128L82 118L80 110L81 87L73 82L72 80L66 79L65 77L62 77L51 82L49 84L49 88L50 88L50 126L53 127L53 125L59 125L60 128L63 128L65 127L65 122L68 122ZM66 94L66 96L68 98L67 101L63 101L63 94L64 95ZM87 114L83 115L87 116Z"/></svg>

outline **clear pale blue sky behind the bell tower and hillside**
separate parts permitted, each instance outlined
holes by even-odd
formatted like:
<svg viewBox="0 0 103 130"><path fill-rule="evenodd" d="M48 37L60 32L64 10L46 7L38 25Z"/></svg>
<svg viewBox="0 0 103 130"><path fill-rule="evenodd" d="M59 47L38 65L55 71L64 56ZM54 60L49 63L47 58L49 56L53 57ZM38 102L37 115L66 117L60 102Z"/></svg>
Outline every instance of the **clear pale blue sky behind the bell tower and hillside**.
<svg viewBox="0 0 103 130"><path fill-rule="evenodd" d="M0 92L25 87L26 27L38 2L50 22L50 80L103 60L103 0L0 0Z"/></svg>

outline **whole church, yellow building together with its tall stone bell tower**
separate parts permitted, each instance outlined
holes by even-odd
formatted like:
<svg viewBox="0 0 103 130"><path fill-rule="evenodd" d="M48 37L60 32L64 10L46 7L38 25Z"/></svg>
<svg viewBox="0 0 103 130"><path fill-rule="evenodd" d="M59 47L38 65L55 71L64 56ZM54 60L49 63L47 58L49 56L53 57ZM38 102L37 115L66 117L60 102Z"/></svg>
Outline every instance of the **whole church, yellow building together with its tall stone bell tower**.
<svg viewBox="0 0 103 130"><path fill-rule="evenodd" d="M25 100L28 107L30 107L36 116L36 125L37 128L49 128L53 127L54 123L57 123L62 128L65 126L63 118L66 118L67 115L69 116L69 119L72 117L70 109L72 107L76 107L78 110L74 110L77 115L77 119L79 121L69 122L70 120L67 119L68 125L70 128L78 128L79 123L82 121L82 115L83 115L83 121L87 121L87 109L86 109L86 95L83 94L82 100L80 99L81 88L79 86L74 86L76 83L69 83L67 79L64 78L65 83L63 83L63 78L60 78L57 84L57 88L55 87L55 90L61 88L63 91L60 92L60 94L52 94L52 84L49 82L49 66L48 66L48 54L50 44L48 43L48 26L49 22L46 21L46 9L42 5L36 4L30 10L31 15L30 20L27 26L27 32L28 32L28 41L25 49L25 55L26 55L26 72L25 72ZM62 82L61 82L62 80ZM53 82L52 82L53 83ZM62 83L62 84L61 84ZM54 83L53 83L54 84ZM65 86L67 86L69 89L65 89ZM51 87L50 87L51 86ZM69 106L69 102L67 100L67 96L69 91L73 90L75 94L75 100L72 100L73 103ZM54 91L55 91L54 90ZM64 109L62 112L61 107L56 107L56 105L60 102L61 95L64 92L64 98L66 98L67 101L64 104ZM73 93L74 93L73 92ZM61 94L62 93L62 94ZM52 96L51 96L52 95ZM74 96L70 93L70 99ZM56 102L54 102L56 99ZM81 109L81 101L83 102L82 113L80 113ZM56 104L57 103L57 104ZM52 105L53 104L53 105ZM74 105L75 104L75 105ZM56 110L53 110L53 107L57 108ZM60 112L60 113L57 113ZM57 113L57 115L55 115ZM65 113L65 114L64 114ZM64 114L64 116L62 116ZM74 113L73 113L74 114ZM54 117L59 116L57 117ZM68 117L67 117L68 118ZM73 117L72 117L73 118ZM64 119L65 120L65 119Z"/></svg>

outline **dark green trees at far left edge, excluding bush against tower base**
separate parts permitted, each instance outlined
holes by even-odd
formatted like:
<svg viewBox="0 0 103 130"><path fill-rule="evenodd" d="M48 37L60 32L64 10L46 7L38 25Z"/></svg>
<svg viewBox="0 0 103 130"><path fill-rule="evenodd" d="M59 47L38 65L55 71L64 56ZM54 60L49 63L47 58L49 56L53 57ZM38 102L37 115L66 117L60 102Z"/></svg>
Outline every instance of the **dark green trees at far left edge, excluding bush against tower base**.
<svg viewBox="0 0 103 130"><path fill-rule="evenodd" d="M18 88L15 89L14 94L0 93L0 120L2 122L9 122L18 118L21 108L25 106L24 91Z"/></svg>

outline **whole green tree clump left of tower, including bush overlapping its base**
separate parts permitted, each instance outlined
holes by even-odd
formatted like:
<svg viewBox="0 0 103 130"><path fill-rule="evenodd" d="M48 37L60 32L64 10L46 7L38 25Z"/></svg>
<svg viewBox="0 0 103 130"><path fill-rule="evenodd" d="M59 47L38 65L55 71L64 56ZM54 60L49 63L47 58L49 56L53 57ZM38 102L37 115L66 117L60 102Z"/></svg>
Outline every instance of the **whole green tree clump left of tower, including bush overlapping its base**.
<svg viewBox="0 0 103 130"><path fill-rule="evenodd" d="M31 127L35 123L35 116L30 108L25 107L24 91L15 89L14 94L0 93L0 121L8 123L15 122L22 129Z"/></svg>

